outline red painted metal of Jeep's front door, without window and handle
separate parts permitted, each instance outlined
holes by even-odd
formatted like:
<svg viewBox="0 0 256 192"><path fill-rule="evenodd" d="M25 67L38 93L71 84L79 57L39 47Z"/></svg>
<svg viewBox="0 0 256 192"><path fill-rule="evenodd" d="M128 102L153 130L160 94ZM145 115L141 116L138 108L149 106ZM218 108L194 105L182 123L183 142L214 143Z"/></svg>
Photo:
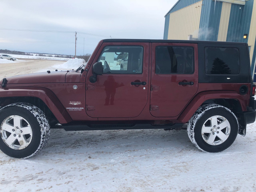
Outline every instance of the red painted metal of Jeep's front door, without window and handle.
<svg viewBox="0 0 256 192"><path fill-rule="evenodd" d="M94 106L95 110L86 113L94 118L129 118L138 116L145 108L150 89L149 74L149 43L103 43L96 54L93 63L98 61L100 53L109 45L138 45L143 46L143 73L142 74L103 74L97 76L97 82L91 84L90 70L86 76L87 86L94 89L86 91L86 104ZM131 82L146 82L146 85L134 86Z"/></svg>

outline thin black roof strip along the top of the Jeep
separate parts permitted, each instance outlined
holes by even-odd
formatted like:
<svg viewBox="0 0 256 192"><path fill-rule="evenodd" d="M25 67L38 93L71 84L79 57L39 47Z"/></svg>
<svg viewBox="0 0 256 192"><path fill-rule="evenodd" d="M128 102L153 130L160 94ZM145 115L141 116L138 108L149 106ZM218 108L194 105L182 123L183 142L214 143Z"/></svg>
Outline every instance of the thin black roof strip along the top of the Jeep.
<svg viewBox="0 0 256 192"><path fill-rule="evenodd" d="M163 39L104 39L103 42L151 42L151 43L196 43L196 44L239 44L243 42L224 42L224 41L196 41L196 40L163 40Z"/></svg>

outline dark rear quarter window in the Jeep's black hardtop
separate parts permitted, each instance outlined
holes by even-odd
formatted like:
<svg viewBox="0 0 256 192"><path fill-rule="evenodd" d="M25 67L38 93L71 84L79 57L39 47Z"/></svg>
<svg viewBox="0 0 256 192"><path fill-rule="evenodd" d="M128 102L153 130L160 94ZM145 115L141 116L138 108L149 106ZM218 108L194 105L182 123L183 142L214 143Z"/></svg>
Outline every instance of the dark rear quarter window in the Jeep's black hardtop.
<svg viewBox="0 0 256 192"><path fill-rule="evenodd" d="M239 74L238 48L205 47L206 74Z"/></svg>

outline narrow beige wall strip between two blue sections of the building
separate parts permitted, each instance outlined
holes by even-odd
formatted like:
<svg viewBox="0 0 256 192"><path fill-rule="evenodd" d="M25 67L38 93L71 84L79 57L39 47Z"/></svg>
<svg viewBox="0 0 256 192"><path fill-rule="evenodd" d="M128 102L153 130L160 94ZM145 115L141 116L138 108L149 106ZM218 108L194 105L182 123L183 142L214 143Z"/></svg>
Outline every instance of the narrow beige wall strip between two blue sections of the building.
<svg viewBox="0 0 256 192"><path fill-rule="evenodd" d="M220 28L218 41L226 41L228 33L228 22L231 10L231 3L222 3L222 11L220 16Z"/></svg>

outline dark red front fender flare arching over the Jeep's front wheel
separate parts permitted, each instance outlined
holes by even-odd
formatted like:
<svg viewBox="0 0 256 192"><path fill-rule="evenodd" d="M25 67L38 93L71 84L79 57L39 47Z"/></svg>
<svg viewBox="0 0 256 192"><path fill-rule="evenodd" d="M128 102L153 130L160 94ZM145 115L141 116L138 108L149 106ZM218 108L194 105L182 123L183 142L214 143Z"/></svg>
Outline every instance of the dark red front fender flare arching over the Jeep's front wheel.
<svg viewBox="0 0 256 192"><path fill-rule="evenodd" d="M46 106L52 111L60 124L66 124L72 121L72 118L56 97L56 95L47 88L4 88L0 89L1 98L7 97L36 97L40 98Z"/></svg>

